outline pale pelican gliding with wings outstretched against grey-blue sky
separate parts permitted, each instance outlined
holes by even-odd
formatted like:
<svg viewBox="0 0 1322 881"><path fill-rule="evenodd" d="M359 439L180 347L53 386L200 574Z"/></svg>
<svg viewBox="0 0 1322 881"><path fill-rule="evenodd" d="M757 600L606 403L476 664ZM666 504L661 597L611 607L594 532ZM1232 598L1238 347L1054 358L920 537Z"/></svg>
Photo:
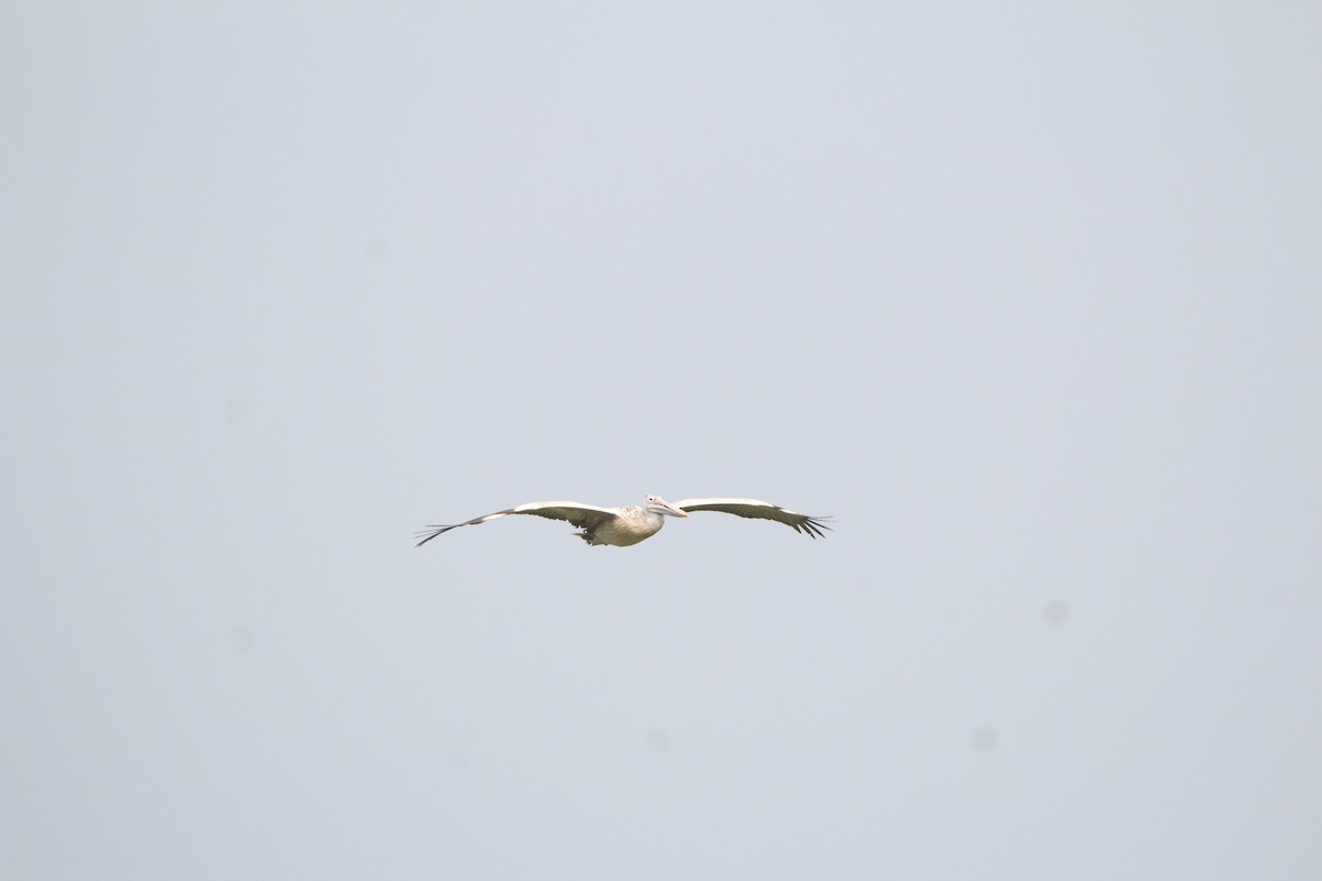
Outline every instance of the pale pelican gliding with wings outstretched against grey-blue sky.
<svg viewBox="0 0 1322 881"><path fill-rule="evenodd" d="M736 516L747 516L758 520L776 520L795 530L804 532L809 538L826 538L822 530L830 527L822 523L821 516L808 516L758 499L683 499L670 503L660 495L649 495L642 499L642 505L629 505L627 507L596 507L595 505L580 505L579 502L529 502L508 507L494 514L475 516L453 526L428 526L416 534L419 538L416 547L431 542L442 532L457 530L461 526L477 526L486 520L494 520L510 514L534 514L551 520L568 520L582 532L575 532L578 538L591 544L613 544L624 548L637 544L642 539L650 538L661 531L668 516L689 516L689 511L724 511Z"/></svg>

